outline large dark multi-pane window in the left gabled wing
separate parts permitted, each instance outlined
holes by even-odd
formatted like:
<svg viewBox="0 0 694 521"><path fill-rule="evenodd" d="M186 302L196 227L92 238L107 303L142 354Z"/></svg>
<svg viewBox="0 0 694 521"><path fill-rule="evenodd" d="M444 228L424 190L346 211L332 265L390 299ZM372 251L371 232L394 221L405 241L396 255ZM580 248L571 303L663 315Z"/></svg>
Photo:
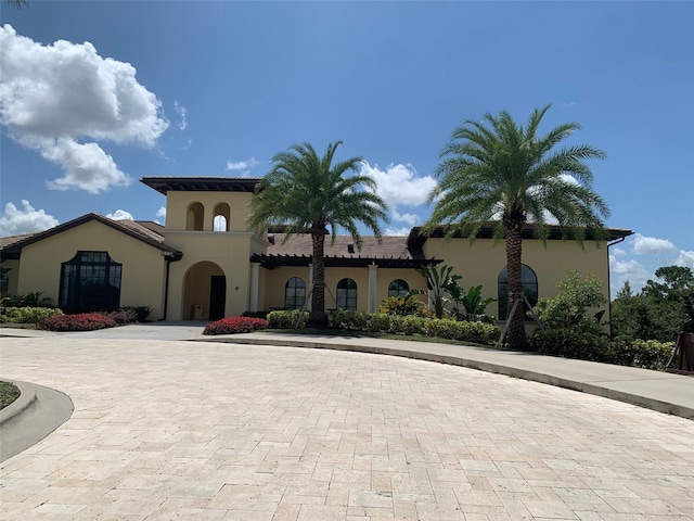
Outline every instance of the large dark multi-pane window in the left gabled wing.
<svg viewBox="0 0 694 521"><path fill-rule="evenodd" d="M118 307L121 271L107 252L77 252L61 266L60 307L69 313Z"/></svg>

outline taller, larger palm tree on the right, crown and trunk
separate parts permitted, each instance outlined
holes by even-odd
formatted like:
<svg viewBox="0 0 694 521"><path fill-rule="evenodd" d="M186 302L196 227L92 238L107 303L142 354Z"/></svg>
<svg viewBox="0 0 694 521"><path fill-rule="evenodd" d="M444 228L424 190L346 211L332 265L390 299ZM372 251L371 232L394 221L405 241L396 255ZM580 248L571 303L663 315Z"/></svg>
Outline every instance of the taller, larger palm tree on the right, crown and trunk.
<svg viewBox="0 0 694 521"><path fill-rule="evenodd" d="M525 128L506 111L498 116L488 113L483 123L465 120L440 153L439 183L428 198L436 206L425 231L445 224L449 239L459 234L474 241L483 226L492 224L494 239L505 239L510 310L523 292L522 231L527 223L534 224L535 237L545 243L547 219L553 216L564 237L582 247L587 236L605 237L600 216L609 216L590 186L593 175L584 163L604 158L604 152L586 144L555 148L580 129L577 123L538 136L549 107L536 109ZM516 313L510 319L512 348L527 348L524 315Z"/></svg>

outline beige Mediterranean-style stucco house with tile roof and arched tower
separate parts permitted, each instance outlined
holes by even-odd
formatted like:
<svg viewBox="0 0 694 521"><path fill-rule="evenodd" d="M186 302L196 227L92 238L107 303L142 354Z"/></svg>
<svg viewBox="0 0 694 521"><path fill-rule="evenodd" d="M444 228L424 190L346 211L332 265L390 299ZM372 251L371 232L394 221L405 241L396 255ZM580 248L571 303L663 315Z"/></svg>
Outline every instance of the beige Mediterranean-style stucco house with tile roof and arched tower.
<svg viewBox="0 0 694 521"><path fill-rule="evenodd" d="M113 220L87 214L49 230L0 242L10 294L42 292L63 310L149 306L151 320L214 320L308 302L311 240L282 227L248 230L254 189L260 179L229 177L145 177L166 195L166 223ZM499 298L488 312L505 318L505 249L491 228L477 239L447 241L444 228L428 237L363 237L361 250L349 236L326 241L327 308L373 312L408 289L426 289L417 271L445 263L462 275L462 285L483 284L483 296ZM563 240L553 227L547 241L524 231L523 283L530 301L554 296L569 269L605 281L608 247L631 230L609 229L606 240L583 247ZM590 238L589 238L590 239Z"/></svg>

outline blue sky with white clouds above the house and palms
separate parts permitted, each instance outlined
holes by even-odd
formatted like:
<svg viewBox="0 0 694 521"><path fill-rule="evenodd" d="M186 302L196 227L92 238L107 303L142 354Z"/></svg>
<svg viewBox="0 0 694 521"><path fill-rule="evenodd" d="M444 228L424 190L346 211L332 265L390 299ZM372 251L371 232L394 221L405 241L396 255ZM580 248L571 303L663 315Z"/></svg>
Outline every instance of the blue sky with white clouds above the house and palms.
<svg viewBox="0 0 694 521"><path fill-rule="evenodd" d="M262 177L337 140L407 234L455 127L551 104L541 132L577 122L565 143L606 154L605 224L634 232L611 290L639 290L694 268L693 26L689 1L2 1L0 236L164 223L142 177Z"/></svg>

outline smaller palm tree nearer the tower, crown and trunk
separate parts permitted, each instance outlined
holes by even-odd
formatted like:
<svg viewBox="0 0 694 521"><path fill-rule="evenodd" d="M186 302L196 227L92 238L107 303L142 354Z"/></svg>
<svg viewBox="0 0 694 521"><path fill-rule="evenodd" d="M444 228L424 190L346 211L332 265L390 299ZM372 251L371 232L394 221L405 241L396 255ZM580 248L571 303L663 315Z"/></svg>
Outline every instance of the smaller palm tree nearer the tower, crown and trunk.
<svg viewBox="0 0 694 521"><path fill-rule="evenodd" d="M356 173L361 157L333 165L342 141L330 143L319 157L310 143L295 144L272 157L272 170L258 183L248 218L249 228L287 225L285 241L294 233L310 233L312 239L313 288L311 317L313 325L325 321L325 236L334 242L337 228L347 230L361 249L357 228L362 223L381 239L380 220L387 221L387 206L375 193L375 181ZM356 174L345 176L348 170Z"/></svg>

